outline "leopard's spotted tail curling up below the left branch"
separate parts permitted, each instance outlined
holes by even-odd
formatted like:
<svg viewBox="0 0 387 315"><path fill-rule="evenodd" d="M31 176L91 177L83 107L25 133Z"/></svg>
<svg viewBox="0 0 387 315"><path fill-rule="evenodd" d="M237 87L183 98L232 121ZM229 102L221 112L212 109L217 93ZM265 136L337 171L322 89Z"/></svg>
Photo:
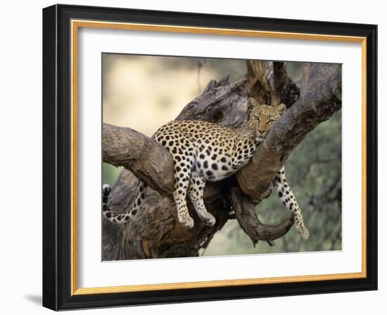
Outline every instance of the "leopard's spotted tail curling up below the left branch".
<svg viewBox="0 0 387 315"><path fill-rule="evenodd" d="M144 199L144 188L146 185L140 182L139 187L137 189L137 196L134 200L134 203L130 207L129 211L126 211L124 214L113 214L110 207L108 206L109 202L109 194L112 190L110 185L104 184L102 186L102 214L105 218L107 218L110 222L113 223L127 223L130 221L131 216L137 214L141 206L141 202Z"/></svg>

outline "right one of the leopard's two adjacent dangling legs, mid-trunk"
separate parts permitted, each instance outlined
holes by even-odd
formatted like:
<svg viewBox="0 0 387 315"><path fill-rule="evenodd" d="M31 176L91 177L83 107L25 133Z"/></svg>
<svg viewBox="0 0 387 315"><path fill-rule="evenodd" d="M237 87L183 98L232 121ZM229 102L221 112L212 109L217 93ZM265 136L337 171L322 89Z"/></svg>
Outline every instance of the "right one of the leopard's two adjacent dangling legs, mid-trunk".
<svg viewBox="0 0 387 315"><path fill-rule="evenodd" d="M216 220L214 216L205 209L203 202L204 187L205 179L201 178L196 171L193 171L189 180L189 198L191 199L192 204L194 204L196 213L199 218L201 218L201 221L203 221L206 226L213 226Z"/></svg>

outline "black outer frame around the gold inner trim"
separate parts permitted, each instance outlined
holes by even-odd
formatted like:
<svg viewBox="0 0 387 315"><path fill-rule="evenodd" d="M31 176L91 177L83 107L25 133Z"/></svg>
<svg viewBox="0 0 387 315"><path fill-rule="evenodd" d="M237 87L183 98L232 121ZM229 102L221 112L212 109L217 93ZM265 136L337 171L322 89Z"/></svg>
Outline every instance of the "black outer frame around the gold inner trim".
<svg viewBox="0 0 387 315"><path fill-rule="evenodd" d="M70 20L367 37L367 278L70 295ZM377 290L377 25L54 5L43 9L43 306L54 310ZM360 141L360 140L359 140Z"/></svg>

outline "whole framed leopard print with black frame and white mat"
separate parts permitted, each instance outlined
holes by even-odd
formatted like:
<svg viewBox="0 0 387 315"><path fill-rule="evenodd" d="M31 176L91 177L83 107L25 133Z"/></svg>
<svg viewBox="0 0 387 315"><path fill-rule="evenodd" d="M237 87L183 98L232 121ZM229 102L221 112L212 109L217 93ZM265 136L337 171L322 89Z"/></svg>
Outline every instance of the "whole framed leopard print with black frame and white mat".
<svg viewBox="0 0 387 315"><path fill-rule="evenodd" d="M44 306L376 290L376 30L44 8Z"/></svg>

